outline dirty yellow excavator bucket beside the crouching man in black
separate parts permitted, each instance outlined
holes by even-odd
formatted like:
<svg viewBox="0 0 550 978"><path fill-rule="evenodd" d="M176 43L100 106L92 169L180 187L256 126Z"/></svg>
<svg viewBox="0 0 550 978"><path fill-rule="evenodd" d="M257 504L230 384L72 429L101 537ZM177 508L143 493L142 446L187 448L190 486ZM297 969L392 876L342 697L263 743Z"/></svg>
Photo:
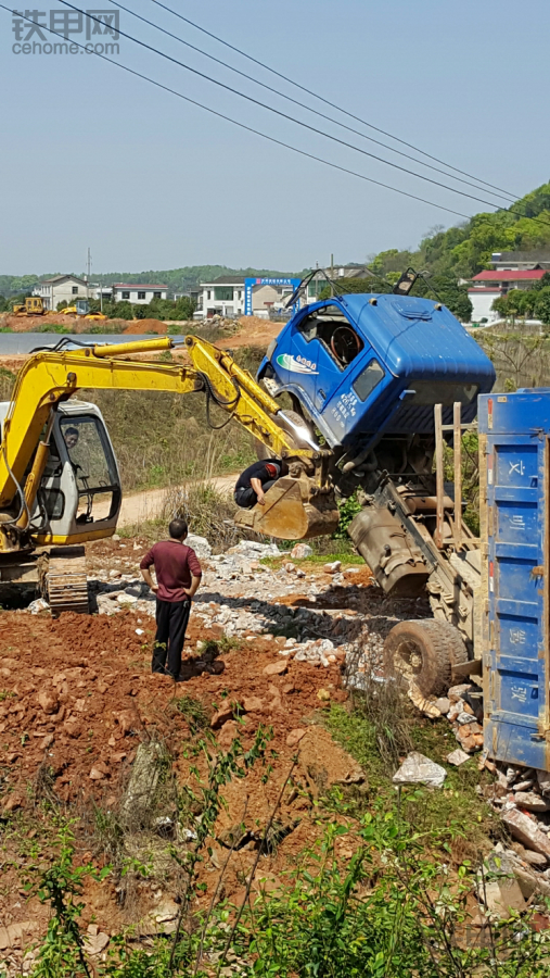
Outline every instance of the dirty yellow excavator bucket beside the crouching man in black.
<svg viewBox="0 0 550 978"><path fill-rule="evenodd" d="M234 522L243 529L280 540L307 540L333 534L338 518L333 490L320 490L303 474L298 479L278 479L266 492L265 505L239 510Z"/></svg>

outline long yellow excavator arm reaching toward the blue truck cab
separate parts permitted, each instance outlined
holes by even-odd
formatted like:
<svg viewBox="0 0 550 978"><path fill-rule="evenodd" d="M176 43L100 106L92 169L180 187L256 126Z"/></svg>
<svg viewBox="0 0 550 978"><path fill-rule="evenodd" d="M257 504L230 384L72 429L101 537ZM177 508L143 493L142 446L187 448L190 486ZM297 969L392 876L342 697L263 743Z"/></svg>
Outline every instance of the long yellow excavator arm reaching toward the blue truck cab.
<svg viewBox="0 0 550 978"><path fill-rule="evenodd" d="M319 496L324 499L323 511L328 512L330 505L327 506L327 497L332 493L327 486L325 453L315 444L308 446L304 441L300 444L300 432L295 423L293 425L286 421L278 403L228 353L195 336L186 337L184 344L192 366L128 359L131 354L175 349L179 344L169 337L69 351L44 350L29 358L17 375L2 429L0 531L3 532L0 532L0 552L18 549L17 537L21 538L27 529L48 460L51 418L56 405L80 388L181 394L204 391L209 402L226 410L255 439L266 444L270 453L291 463L291 478L280 480L283 489L285 481L292 482L287 487L286 506L279 503L273 507L273 501L269 500L261 514L266 517L266 532L292 537L286 532L289 527L284 525L284 518L281 534L274 532L273 525L277 523L277 512L283 516L285 507L294 512L298 499L303 509ZM44 427L47 435L40 441ZM25 486L22 487L25 473ZM13 511L17 509L22 493L25 512L14 521ZM283 492L281 500L284 496ZM335 504L333 510L336 510ZM291 519L291 524L294 526L295 519L294 523ZM305 526L302 536L311 535L309 529L309 525Z"/></svg>

